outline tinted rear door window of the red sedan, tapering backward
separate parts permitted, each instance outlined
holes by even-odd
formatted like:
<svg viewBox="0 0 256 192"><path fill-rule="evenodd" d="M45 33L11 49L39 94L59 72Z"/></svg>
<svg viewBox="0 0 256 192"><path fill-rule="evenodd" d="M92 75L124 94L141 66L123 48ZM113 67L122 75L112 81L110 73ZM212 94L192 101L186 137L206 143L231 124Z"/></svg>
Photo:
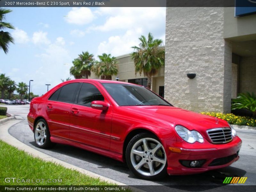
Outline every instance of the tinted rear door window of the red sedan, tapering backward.
<svg viewBox="0 0 256 192"><path fill-rule="evenodd" d="M49 100L57 100L67 103L73 103L75 99L76 89L79 83L70 83L64 85L54 92Z"/></svg>

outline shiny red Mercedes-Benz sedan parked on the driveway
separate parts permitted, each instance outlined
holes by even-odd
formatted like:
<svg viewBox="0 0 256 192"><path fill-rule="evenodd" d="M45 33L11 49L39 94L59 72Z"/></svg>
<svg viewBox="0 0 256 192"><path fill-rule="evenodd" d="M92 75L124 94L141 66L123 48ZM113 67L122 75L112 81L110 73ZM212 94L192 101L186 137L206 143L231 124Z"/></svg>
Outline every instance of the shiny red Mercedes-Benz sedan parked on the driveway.
<svg viewBox="0 0 256 192"><path fill-rule="evenodd" d="M142 178L229 166L242 145L226 121L177 108L125 82L76 79L30 103L39 148L68 144L126 162Z"/></svg>

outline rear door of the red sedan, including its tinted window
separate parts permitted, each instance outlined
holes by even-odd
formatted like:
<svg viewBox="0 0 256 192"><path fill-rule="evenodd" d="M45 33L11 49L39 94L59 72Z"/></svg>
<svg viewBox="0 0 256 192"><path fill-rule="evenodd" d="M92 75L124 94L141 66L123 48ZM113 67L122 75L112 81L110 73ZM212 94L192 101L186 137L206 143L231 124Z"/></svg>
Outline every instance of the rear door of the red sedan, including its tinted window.
<svg viewBox="0 0 256 192"><path fill-rule="evenodd" d="M54 92L46 102L48 125L52 136L69 139L70 109L79 83L70 83Z"/></svg>

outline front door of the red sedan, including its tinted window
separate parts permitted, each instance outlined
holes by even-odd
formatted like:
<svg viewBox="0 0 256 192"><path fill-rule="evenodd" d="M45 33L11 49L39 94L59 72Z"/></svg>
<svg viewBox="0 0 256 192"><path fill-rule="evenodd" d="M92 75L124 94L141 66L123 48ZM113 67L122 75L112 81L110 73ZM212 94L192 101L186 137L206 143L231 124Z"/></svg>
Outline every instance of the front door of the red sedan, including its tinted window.
<svg viewBox="0 0 256 192"><path fill-rule="evenodd" d="M112 108L100 90L91 83L82 83L70 112L70 140L109 149ZM109 104L107 111L91 108L94 100Z"/></svg>

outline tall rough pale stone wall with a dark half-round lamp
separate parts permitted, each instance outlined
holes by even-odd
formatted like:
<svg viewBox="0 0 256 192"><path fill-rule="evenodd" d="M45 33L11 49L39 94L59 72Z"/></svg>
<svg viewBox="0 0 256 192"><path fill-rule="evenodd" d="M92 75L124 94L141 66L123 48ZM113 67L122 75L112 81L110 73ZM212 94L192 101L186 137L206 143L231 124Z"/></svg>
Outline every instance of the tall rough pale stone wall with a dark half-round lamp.
<svg viewBox="0 0 256 192"><path fill-rule="evenodd" d="M222 7L166 8L164 96L173 105L230 112L232 43L223 23Z"/></svg>

